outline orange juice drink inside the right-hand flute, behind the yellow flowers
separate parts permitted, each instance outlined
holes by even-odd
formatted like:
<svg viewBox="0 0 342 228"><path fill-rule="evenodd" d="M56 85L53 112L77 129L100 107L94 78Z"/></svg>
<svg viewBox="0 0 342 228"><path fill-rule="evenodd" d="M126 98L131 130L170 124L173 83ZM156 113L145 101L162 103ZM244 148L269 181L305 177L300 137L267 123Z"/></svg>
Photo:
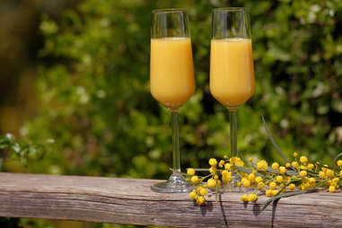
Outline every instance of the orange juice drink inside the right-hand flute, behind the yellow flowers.
<svg viewBox="0 0 342 228"><path fill-rule="evenodd" d="M210 92L228 109L236 109L254 93L250 39L212 39Z"/></svg>

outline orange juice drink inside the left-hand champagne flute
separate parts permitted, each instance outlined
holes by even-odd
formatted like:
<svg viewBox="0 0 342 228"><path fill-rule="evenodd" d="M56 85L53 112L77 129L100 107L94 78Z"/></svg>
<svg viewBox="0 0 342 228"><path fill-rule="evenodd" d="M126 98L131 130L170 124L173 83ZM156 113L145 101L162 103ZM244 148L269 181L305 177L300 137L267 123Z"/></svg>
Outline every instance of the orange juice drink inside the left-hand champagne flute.
<svg viewBox="0 0 342 228"><path fill-rule="evenodd" d="M151 39L150 86L153 98L178 110L195 92L189 38Z"/></svg>

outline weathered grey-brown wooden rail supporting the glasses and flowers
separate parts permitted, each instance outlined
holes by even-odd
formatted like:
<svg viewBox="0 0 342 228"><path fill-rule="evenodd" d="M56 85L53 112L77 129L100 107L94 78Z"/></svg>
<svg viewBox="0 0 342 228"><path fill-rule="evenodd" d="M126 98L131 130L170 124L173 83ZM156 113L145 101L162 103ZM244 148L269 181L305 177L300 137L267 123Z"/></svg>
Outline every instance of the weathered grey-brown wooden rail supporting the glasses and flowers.
<svg viewBox="0 0 342 228"><path fill-rule="evenodd" d="M0 172L0 216L176 227L342 227L342 194L326 191L282 198L259 214L225 193L207 206L188 194L161 194L160 180L52 176Z"/></svg>

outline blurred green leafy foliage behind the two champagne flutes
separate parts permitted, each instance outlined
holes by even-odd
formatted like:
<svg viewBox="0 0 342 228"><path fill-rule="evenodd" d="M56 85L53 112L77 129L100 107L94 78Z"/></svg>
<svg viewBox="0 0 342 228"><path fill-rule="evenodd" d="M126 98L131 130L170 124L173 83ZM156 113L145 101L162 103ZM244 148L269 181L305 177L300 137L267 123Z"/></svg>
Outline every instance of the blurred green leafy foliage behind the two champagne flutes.
<svg viewBox="0 0 342 228"><path fill-rule="evenodd" d="M182 167L229 154L227 113L208 87L211 11L223 6L250 9L256 92L238 112L241 156L282 162L263 114L285 154L330 162L342 148L341 0L86 0L40 25L53 64L40 67L41 108L21 132L45 156L3 170L167 178L170 113L148 83L151 11L167 7L189 9L197 80L180 109Z"/></svg>

